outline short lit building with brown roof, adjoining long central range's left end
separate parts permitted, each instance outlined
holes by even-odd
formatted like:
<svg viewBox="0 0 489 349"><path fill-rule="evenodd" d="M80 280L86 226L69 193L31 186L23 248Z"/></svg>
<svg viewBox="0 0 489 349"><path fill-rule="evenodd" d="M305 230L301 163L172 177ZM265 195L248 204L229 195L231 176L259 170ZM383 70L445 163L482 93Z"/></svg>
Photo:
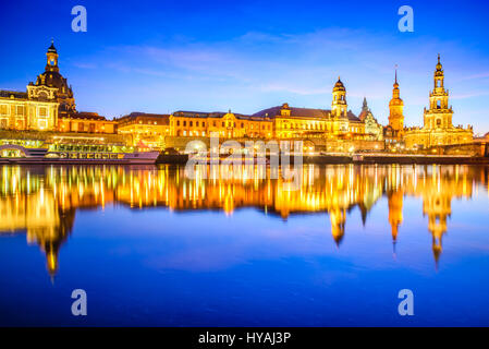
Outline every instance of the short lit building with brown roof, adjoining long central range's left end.
<svg viewBox="0 0 489 349"><path fill-rule="evenodd" d="M132 112L117 120L118 133L127 144L164 148L164 139L170 136L170 116Z"/></svg>

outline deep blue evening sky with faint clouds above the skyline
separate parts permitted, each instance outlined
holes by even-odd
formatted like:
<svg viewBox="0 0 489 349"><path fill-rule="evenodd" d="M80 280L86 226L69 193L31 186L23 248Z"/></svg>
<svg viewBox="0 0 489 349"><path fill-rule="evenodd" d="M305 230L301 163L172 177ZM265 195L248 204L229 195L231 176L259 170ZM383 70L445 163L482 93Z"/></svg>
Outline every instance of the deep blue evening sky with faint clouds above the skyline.
<svg viewBox="0 0 489 349"><path fill-rule="evenodd" d="M72 7L88 32L71 31ZM414 33L398 9L414 9ZM407 125L423 122L437 53L454 124L489 131L487 1L9 1L0 5L0 88L25 91L54 38L77 109L254 113L289 103L329 109L341 75L387 123L394 65Z"/></svg>

